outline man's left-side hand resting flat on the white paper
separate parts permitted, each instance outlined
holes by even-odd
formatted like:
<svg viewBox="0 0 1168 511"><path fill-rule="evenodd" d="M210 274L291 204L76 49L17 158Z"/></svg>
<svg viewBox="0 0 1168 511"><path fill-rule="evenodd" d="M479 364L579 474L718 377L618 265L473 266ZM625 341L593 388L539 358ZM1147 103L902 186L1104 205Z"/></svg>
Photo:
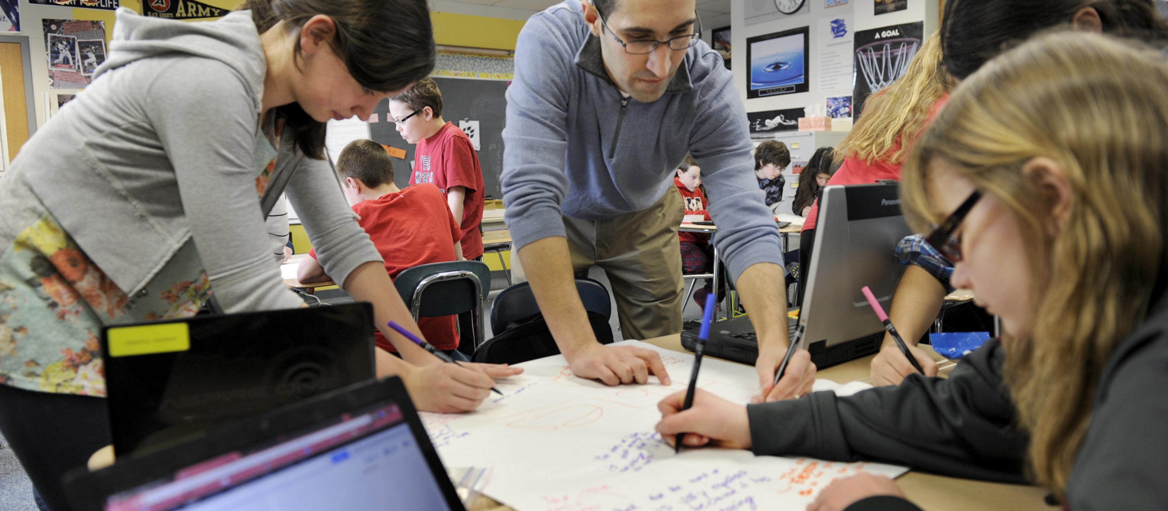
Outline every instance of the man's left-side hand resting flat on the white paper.
<svg viewBox="0 0 1168 511"><path fill-rule="evenodd" d="M572 374L580 378L595 378L605 385L620 385L649 380L649 371L661 380L661 385L670 385L669 373L661 363L656 351L634 346L605 346L593 342L569 356L568 363Z"/></svg>

